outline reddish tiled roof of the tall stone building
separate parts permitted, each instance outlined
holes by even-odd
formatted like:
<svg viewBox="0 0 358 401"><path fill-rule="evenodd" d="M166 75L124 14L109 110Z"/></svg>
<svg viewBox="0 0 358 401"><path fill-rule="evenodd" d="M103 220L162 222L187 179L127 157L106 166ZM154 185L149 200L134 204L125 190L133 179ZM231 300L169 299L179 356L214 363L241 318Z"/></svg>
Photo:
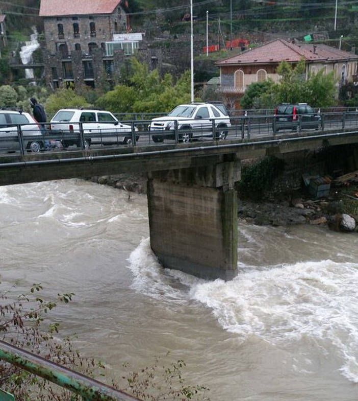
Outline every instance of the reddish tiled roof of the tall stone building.
<svg viewBox="0 0 358 401"><path fill-rule="evenodd" d="M111 14L122 0L41 0L40 17Z"/></svg>

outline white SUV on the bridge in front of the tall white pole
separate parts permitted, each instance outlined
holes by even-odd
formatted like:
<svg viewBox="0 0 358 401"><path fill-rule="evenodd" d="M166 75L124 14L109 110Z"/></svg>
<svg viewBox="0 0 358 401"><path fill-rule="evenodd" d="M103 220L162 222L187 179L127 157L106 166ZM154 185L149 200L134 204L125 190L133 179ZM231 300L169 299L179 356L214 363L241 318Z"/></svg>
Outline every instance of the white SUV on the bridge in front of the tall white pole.
<svg viewBox="0 0 358 401"><path fill-rule="evenodd" d="M190 103L176 106L168 115L151 120L149 129L154 142L164 139L175 139L175 125L178 139L188 142L193 137L213 135L215 126L215 139L225 139L230 119L225 106L221 103ZM170 132L166 132L170 131Z"/></svg>

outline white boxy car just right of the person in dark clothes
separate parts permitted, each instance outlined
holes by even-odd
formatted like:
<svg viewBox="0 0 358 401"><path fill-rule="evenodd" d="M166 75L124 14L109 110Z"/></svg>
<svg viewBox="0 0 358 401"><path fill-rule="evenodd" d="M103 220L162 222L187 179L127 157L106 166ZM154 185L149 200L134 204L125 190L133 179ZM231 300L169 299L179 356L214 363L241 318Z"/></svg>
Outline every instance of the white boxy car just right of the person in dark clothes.
<svg viewBox="0 0 358 401"><path fill-rule="evenodd" d="M90 145L133 145L132 126L122 124L110 112L95 109L66 108L51 119L50 130L59 134L62 145L81 147L81 130L84 147ZM137 132L137 127L133 127ZM136 135L135 140L139 139Z"/></svg>

